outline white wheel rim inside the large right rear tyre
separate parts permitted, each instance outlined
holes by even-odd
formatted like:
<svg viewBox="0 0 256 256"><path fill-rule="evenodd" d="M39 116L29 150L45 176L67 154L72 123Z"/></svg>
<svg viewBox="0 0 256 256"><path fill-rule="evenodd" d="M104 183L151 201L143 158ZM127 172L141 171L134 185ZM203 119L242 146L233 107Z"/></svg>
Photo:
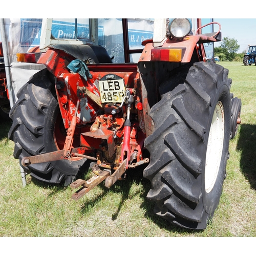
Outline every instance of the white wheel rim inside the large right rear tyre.
<svg viewBox="0 0 256 256"><path fill-rule="evenodd" d="M205 161L205 191L210 193L215 185L223 151L224 142L224 108L218 102L211 120Z"/></svg>

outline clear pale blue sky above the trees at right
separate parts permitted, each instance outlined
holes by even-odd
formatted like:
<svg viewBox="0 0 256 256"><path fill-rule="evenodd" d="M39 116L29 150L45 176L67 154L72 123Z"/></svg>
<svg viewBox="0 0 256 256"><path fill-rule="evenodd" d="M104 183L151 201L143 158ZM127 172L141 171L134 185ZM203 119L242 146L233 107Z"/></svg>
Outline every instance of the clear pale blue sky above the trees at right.
<svg viewBox="0 0 256 256"><path fill-rule="evenodd" d="M214 18L214 22L221 24L222 38L238 40L240 48L237 53L247 51L248 45L256 45L256 18ZM214 46L221 46L221 42L216 42Z"/></svg>

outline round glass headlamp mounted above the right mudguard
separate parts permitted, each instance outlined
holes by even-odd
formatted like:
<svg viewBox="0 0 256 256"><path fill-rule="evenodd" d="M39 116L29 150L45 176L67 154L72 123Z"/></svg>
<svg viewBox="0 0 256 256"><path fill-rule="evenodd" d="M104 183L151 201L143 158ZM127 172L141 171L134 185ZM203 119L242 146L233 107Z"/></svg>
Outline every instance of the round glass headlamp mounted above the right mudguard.
<svg viewBox="0 0 256 256"><path fill-rule="evenodd" d="M172 37L184 38L192 29L191 20L187 18L170 19L168 28Z"/></svg>

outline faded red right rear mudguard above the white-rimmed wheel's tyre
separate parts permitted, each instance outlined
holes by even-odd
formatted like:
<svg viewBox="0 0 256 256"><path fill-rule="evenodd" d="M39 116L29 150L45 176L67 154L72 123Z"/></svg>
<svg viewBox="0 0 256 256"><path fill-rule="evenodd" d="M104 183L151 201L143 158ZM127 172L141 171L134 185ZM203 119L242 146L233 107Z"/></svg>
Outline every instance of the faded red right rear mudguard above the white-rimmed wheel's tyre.
<svg viewBox="0 0 256 256"><path fill-rule="evenodd" d="M212 35L211 35L212 36ZM184 39L166 39L161 47L154 47L153 40L144 42L145 48L138 61L141 82L141 98L143 99L143 119L146 123L146 135L152 134L154 123L149 115L153 105L160 100L158 88L161 83L175 74L175 69L182 65L192 66L194 62L206 61L203 44L219 41L221 34L211 37L207 34L186 36ZM181 58L177 61L154 60L152 50L180 49ZM173 71L174 70L174 71Z"/></svg>

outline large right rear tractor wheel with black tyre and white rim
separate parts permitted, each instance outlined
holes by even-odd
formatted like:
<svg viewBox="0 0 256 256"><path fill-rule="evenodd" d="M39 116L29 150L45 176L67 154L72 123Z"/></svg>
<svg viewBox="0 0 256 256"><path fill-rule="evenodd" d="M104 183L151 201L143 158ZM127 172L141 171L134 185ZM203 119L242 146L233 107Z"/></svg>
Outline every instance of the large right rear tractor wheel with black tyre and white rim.
<svg viewBox="0 0 256 256"><path fill-rule="evenodd" d="M164 94L151 109L154 130L144 143L150 164L143 176L151 181L147 199L155 201L155 214L201 230L214 215L226 177L231 79L227 69L205 62L179 77L183 83L168 81L169 92L166 82L160 86Z"/></svg>

